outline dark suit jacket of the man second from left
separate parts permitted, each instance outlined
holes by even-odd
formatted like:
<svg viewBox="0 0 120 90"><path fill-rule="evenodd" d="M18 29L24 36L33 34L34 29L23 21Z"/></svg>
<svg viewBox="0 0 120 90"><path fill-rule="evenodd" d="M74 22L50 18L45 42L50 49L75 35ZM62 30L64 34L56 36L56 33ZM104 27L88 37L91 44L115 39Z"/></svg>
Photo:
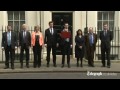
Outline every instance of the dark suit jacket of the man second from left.
<svg viewBox="0 0 120 90"><path fill-rule="evenodd" d="M19 46L24 45L23 31L19 32ZM26 31L26 45L31 46L31 35L30 32Z"/></svg>

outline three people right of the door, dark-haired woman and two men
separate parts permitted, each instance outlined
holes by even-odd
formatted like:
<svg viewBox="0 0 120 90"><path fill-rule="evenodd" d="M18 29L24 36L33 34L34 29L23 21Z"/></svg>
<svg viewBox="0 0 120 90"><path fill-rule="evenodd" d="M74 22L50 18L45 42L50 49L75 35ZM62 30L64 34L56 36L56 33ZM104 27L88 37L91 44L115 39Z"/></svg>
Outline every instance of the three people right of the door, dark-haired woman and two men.
<svg viewBox="0 0 120 90"><path fill-rule="evenodd" d="M101 61L102 67L106 66L110 68L110 50L111 50L111 41L113 40L113 33L108 29L108 25L104 24L104 29L100 32L99 38L101 40ZM88 60L88 66L94 67L94 52L96 50L97 43L97 34L93 32L93 28L89 28L87 35L82 34L82 30L77 31L75 37L75 57L77 58L77 67L79 66L79 60L81 61L81 67L83 66L82 61L86 50L86 58Z"/></svg>

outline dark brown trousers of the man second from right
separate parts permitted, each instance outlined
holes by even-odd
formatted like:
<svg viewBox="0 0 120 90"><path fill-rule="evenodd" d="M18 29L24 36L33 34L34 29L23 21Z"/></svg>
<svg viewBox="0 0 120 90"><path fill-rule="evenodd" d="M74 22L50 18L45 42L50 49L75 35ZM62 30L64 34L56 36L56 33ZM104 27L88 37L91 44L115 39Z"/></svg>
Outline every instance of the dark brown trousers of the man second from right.
<svg viewBox="0 0 120 90"><path fill-rule="evenodd" d="M88 55L88 65L94 65L94 46L89 46L87 49L87 55Z"/></svg>

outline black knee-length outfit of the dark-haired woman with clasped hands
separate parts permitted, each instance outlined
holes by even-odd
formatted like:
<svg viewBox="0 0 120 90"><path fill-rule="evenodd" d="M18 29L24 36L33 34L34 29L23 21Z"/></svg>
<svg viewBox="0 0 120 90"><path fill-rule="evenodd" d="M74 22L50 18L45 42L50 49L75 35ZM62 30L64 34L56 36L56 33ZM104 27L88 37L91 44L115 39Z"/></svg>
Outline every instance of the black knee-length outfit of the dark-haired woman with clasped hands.
<svg viewBox="0 0 120 90"><path fill-rule="evenodd" d="M84 57L84 47L85 47L85 39L84 36L82 36L81 38L79 36L75 37L75 57L78 58L83 58ZM79 47L82 46L82 49L80 49Z"/></svg>

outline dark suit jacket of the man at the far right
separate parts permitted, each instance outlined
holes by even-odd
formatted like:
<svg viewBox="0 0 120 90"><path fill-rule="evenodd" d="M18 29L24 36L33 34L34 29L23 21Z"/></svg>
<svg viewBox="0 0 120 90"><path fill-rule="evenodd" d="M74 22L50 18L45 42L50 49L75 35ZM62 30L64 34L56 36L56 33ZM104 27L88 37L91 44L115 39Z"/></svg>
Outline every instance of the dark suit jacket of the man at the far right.
<svg viewBox="0 0 120 90"><path fill-rule="evenodd" d="M104 36L104 31L100 32L100 40L101 40L101 46L106 45L108 48L111 47L111 40L113 39L113 34L111 31L107 31L107 35Z"/></svg>

